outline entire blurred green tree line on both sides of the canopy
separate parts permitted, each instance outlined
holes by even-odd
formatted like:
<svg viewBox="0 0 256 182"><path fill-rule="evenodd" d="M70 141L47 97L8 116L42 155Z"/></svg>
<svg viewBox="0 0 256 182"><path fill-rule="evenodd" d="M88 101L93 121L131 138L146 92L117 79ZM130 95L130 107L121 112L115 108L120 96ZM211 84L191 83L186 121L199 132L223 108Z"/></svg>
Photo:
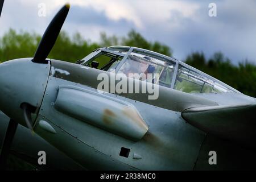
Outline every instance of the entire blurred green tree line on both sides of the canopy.
<svg viewBox="0 0 256 182"><path fill-rule="evenodd" d="M10 29L0 38L0 63L20 57L34 56L40 39L41 36L36 33L24 31L17 33ZM167 56L172 55L170 47L159 42L149 42L141 34L131 30L124 37L107 36L101 33L99 43L84 40L79 33L69 36L67 32L61 32L48 57L75 63L96 48L114 45L140 47ZM233 65L221 52L214 53L208 60L203 52L194 52L187 57L186 63L216 77L242 93L256 97L256 66L248 61Z"/></svg>

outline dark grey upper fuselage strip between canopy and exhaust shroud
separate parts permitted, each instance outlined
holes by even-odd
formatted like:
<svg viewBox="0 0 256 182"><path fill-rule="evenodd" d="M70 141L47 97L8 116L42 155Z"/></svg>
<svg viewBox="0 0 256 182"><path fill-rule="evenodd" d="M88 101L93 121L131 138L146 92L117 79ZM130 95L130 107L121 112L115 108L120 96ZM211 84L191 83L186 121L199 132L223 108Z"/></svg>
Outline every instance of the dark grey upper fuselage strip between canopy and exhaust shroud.
<svg viewBox="0 0 256 182"><path fill-rule="evenodd" d="M55 72L55 74L51 74L51 76L56 78L61 78L63 80L72 81L77 84L87 85L94 89L97 89L98 84L101 80L97 80L97 77L100 73L106 73L110 77L109 72L101 71L94 68L81 69L81 65L65 63L64 61L52 60L52 66L56 69L65 70L70 73L70 75L65 75L63 73ZM129 78L133 79L133 78ZM140 88L142 85L146 84L144 81L139 81ZM128 84L127 80L127 85ZM115 85L117 81L115 82ZM110 88L110 86L109 86ZM135 86L133 86L135 89ZM129 86L127 86L127 90L129 90ZM218 105L214 101L210 101L207 98L201 98L198 96L194 96L192 94L180 92L174 89L166 88L164 86L159 86L159 98L156 100L148 100L147 93L114 93L122 97L130 98L131 100L136 100L140 102L144 102L146 104L163 107L164 109L174 110L174 111L183 111L189 107L196 106L216 106Z"/></svg>

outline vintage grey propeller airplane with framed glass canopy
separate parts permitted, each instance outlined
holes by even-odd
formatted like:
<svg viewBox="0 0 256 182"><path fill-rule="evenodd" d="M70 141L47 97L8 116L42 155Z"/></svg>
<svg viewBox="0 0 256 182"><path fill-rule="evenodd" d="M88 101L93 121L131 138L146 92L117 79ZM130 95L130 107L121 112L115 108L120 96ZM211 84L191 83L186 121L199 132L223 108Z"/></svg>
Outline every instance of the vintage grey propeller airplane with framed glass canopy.
<svg viewBox="0 0 256 182"><path fill-rule="evenodd" d="M11 151L27 160L38 150L65 169L256 168L255 98L137 47L98 48L76 64L48 59L68 11L49 23L34 57L0 64L2 169Z"/></svg>

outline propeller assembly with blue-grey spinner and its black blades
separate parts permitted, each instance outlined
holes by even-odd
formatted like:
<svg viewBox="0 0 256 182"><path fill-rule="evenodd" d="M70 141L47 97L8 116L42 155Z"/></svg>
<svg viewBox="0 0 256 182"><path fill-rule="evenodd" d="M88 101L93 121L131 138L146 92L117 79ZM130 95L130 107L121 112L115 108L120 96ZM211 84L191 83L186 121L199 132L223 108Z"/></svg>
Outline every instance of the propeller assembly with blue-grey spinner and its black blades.
<svg viewBox="0 0 256 182"><path fill-rule="evenodd" d="M0 14L2 6L3 1L1 1L0 5ZM32 126L42 103L48 81L50 67L46 57L56 42L65 18L68 15L69 7L69 4L64 5L53 17L51 23L49 23L35 55L31 59L34 64L30 64L31 61L28 59L19 59L8 61L1 65L0 82L2 89L0 92L0 109L7 115L11 115L0 153L1 169L6 167L7 155L10 152L16 128L18 127L18 122L16 121L19 121L22 125L27 125L31 131L33 130ZM31 68L31 71L27 72L27 68ZM5 77L10 78L10 80L7 81ZM8 100L13 100L13 104L10 105ZM23 113L23 117L21 113ZM55 133L55 130L47 122L40 121L39 125L46 131Z"/></svg>

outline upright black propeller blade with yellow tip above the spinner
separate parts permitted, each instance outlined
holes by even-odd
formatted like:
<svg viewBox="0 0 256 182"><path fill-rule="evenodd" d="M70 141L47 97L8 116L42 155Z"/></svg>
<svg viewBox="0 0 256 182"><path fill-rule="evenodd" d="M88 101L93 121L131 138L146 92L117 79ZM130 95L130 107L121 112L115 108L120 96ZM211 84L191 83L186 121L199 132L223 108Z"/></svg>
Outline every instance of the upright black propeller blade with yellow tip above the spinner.
<svg viewBox="0 0 256 182"><path fill-rule="evenodd" d="M34 63L48 63L48 61L46 61L46 57L49 55L49 52L56 42L57 36L59 35L61 27L68 15L68 11L69 4L66 4L54 16L51 23L49 23L38 48L36 49L34 59L32 60Z"/></svg>

